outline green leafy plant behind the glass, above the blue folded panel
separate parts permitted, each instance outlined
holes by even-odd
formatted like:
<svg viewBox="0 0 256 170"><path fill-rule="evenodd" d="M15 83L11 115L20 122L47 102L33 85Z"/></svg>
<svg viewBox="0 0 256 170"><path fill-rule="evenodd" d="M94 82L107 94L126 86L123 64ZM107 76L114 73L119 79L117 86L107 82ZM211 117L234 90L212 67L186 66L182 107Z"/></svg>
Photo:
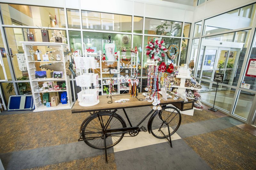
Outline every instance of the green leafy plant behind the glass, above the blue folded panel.
<svg viewBox="0 0 256 170"><path fill-rule="evenodd" d="M17 80L28 80L28 76L18 77ZM18 82L17 84L19 87L20 95L27 95L31 93L30 84L28 82ZM14 89L13 83L8 83L6 88L8 89L7 92L11 93Z"/></svg>

